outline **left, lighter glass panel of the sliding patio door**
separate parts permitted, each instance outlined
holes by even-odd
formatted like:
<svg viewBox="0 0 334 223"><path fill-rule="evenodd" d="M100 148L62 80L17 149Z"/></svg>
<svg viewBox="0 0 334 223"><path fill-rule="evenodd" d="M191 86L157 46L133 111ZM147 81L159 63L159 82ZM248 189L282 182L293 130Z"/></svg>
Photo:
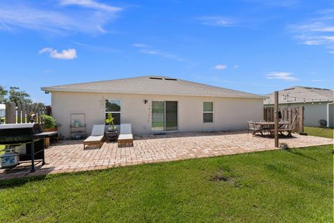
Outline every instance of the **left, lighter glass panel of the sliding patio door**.
<svg viewBox="0 0 334 223"><path fill-rule="evenodd" d="M164 131L165 127L165 102L152 101L152 130Z"/></svg>

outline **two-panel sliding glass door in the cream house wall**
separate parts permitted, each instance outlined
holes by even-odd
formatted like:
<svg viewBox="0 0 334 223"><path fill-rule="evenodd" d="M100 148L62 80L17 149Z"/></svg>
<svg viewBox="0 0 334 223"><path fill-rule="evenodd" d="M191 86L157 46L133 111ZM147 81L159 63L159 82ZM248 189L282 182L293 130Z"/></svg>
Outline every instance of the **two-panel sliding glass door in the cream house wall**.
<svg viewBox="0 0 334 223"><path fill-rule="evenodd" d="M152 101L152 130L177 131L177 101Z"/></svg>

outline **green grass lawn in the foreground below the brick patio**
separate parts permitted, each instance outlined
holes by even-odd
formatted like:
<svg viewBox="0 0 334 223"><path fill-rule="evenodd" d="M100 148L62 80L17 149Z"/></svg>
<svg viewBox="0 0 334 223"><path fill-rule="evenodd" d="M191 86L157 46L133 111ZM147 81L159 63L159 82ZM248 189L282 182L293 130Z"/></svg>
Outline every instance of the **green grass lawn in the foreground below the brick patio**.
<svg viewBox="0 0 334 223"><path fill-rule="evenodd" d="M333 222L333 146L0 182L0 222Z"/></svg>

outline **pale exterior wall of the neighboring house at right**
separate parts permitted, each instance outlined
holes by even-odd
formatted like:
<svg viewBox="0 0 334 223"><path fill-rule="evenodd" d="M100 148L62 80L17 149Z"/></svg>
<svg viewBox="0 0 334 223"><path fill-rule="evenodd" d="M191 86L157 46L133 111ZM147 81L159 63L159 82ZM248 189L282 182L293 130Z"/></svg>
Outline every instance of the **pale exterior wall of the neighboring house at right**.
<svg viewBox="0 0 334 223"><path fill-rule="evenodd" d="M293 103L293 104L280 104L278 107L301 107L305 108L304 110L304 125L319 127L319 120L327 120L327 102L315 102L312 103ZM264 105L264 107L273 107L273 105ZM333 116L333 112L332 112ZM330 118L331 120L331 118ZM333 120L333 118L332 118ZM333 121L330 121L330 126L333 127ZM332 124L331 124L332 123Z"/></svg>

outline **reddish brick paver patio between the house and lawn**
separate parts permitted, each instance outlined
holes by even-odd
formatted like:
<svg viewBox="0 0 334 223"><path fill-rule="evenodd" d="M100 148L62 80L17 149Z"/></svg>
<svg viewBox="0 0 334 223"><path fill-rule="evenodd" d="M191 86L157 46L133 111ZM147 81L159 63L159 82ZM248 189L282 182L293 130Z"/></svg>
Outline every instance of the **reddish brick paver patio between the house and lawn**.
<svg viewBox="0 0 334 223"><path fill-rule="evenodd" d="M333 139L294 134L280 142L286 142L292 148L333 144ZM88 147L85 150L82 141L64 140L45 150L47 164L37 164L34 173L29 172L30 167L18 166L0 170L0 180L277 149L273 144L273 138L253 137L244 132L150 135L136 137L134 146L118 148L117 143L104 143L102 148Z"/></svg>

